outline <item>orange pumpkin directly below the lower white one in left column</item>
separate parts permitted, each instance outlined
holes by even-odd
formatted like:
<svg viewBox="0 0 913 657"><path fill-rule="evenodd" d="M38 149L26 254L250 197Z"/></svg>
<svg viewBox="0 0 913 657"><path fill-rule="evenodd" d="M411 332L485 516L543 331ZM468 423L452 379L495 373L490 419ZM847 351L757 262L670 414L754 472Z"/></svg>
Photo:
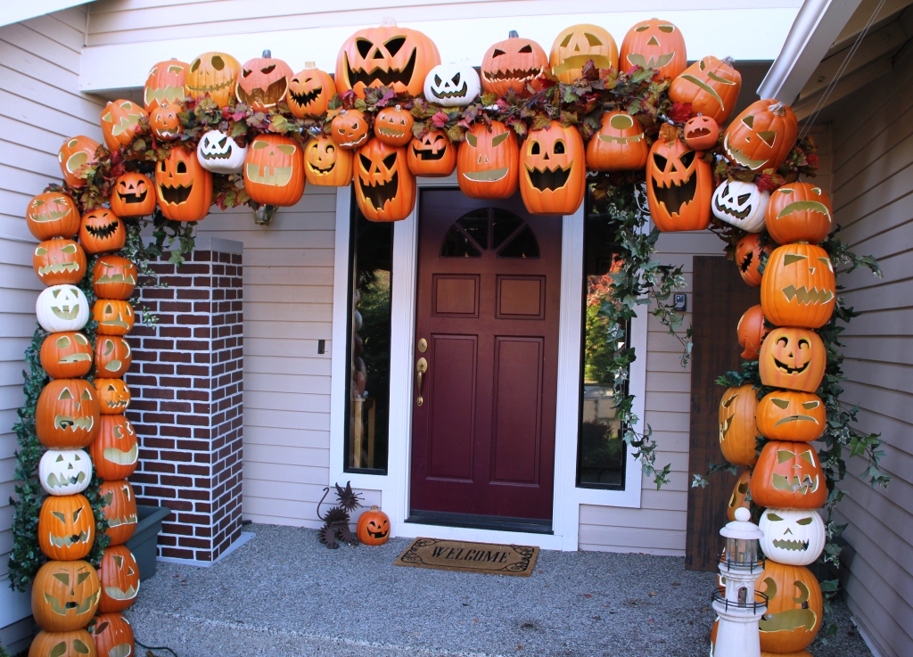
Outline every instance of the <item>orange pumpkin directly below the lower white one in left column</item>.
<svg viewBox="0 0 913 657"><path fill-rule="evenodd" d="M85 454L85 452L83 452ZM95 540L95 516L83 495L48 495L38 515L38 545L47 558L85 558Z"/></svg>

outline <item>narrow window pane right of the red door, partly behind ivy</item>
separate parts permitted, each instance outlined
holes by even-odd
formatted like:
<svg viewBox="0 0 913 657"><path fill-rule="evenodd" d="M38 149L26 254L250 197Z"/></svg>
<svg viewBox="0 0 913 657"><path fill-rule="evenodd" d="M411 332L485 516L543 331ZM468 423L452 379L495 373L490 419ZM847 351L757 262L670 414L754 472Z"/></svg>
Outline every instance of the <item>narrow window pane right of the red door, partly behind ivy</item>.
<svg viewBox="0 0 913 657"><path fill-rule="evenodd" d="M608 348L608 319L600 309L611 303L612 275L624 268L614 245L608 214L587 203L583 228L583 354L581 368L580 433L577 485L624 490L627 448L615 417L612 350ZM625 329L624 335L628 335Z"/></svg>

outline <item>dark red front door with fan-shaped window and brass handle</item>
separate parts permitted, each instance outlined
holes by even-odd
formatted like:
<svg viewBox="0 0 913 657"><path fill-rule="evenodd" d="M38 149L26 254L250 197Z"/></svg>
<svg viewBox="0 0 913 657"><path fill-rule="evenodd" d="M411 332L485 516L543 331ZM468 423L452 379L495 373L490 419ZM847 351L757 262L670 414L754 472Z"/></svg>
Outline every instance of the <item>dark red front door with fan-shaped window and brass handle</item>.
<svg viewBox="0 0 913 657"><path fill-rule="evenodd" d="M549 520L561 218L519 195L419 203L412 516Z"/></svg>

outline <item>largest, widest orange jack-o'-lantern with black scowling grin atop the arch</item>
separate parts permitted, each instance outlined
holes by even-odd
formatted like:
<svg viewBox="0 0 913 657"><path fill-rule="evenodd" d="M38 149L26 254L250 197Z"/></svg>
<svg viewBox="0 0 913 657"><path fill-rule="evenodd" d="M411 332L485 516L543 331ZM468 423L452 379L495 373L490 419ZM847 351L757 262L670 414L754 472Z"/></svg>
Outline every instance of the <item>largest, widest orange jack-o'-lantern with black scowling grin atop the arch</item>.
<svg viewBox="0 0 913 657"><path fill-rule="evenodd" d="M440 63L434 41L388 21L358 30L342 44L336 58L336 89L340 95L352 89L359 98L368 87L418 96L428 71Z"/></svg>

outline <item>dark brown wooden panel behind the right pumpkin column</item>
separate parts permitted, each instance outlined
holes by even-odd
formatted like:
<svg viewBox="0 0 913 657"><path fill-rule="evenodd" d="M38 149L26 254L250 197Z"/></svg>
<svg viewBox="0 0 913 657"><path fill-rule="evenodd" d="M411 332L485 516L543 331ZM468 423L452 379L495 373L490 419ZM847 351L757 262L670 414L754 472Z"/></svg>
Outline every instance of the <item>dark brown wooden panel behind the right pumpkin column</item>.
<svg viewBox="0 0 913 657"><path fill-rule="evenodd" d="M693 276L694 358L691 361L690 474L705 474L710 463L723 463L719 451L720 374L738 370L741 348L736 327L742 313L760 302L757 287L749 287L730 260L696 255ZM690 479L690 474L688 478ZM715 474L706 488L688 487L685 567L715 571L722 549L719 529L727 523L726 503L735 477Z"/></svg>

